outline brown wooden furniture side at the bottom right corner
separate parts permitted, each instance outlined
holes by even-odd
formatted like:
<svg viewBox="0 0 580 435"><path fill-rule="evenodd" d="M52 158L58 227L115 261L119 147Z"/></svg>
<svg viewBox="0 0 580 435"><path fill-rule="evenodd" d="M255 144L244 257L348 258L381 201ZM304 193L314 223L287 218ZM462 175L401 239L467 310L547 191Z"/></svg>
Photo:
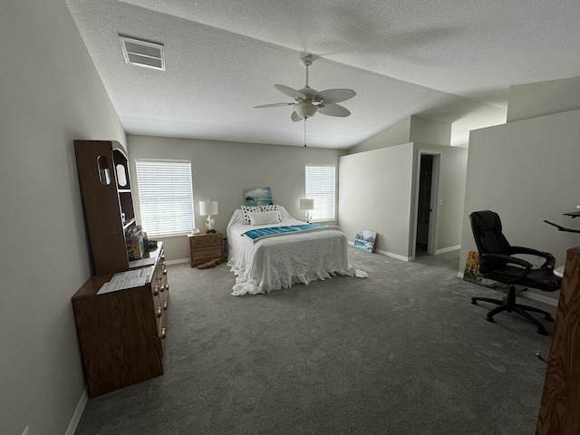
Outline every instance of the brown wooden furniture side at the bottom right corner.
<svg viewBox="0 0 580 435"><path fill-rule="evenodd" d="M580 432L580 247L568 249L536 435Z"/></svg>

